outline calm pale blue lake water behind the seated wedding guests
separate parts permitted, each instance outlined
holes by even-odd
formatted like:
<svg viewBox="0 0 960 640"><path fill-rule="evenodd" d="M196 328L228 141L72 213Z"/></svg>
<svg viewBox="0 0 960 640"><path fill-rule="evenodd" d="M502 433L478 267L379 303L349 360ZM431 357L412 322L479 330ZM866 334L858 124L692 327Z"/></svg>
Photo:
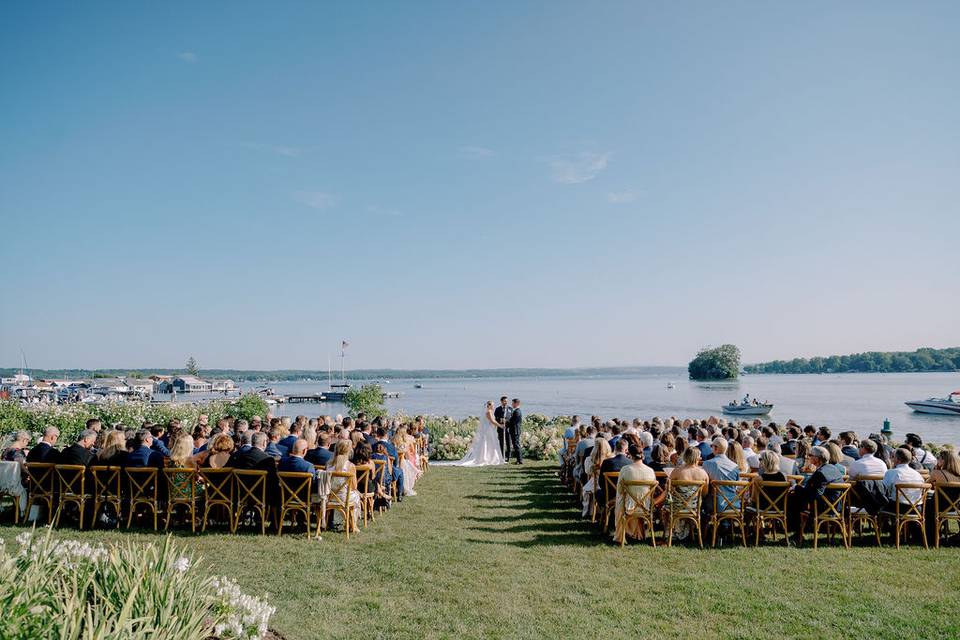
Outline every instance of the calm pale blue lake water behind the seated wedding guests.
<svg viewBox="0 0 960 640"><path fill-rule="evenodd" d="M774 404L770 420L783 424L793 418L802 425L827 425L834 433L853 429L865 435L879 432L889 418L894 436L908 432L937 443L960 444L960 417L914 413L905 400L942 397L960 389L960 373L870 373L827 375L752 375L734 383L698 383L685 372L631 376L468 378L393 380L384 385L400 398L387 401L390 412L407 415L478 415L487 400L518 397L528 413L547 415L593 414L604 418L677 416L706 418L720 415L720 406L745 393ZM674 389L667 388L673 382ZM244 389L252 385L241 385ZM278 394L307 394L327 390L323 382L277 382ZM263 385L258 385L262 388ZM339 403L277 405L276 415L316 416L344 413Z"/></svg>

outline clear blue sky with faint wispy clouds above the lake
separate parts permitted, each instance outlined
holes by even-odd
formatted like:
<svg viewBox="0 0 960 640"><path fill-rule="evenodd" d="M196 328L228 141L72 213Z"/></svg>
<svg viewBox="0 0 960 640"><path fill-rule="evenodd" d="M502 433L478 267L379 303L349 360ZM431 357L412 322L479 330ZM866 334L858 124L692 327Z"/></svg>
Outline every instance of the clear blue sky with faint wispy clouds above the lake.
<svg viewBox="0 0 960 640"><path fill-rule="evenodd" d="M0 363L960 344L956 3L4 3Z"/></svg>

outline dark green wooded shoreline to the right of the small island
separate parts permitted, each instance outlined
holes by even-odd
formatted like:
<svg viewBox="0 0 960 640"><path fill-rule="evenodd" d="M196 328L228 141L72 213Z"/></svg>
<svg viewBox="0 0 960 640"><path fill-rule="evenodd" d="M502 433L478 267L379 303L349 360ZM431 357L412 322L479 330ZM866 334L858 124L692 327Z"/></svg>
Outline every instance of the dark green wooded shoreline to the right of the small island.
<svg viewBox="0 0 960 640"><path fill-rule="evenodd" d="M960 347L916 351L867 351L847 356L794 358L748 364L746 373L893 373L960 371Z"/></svg>

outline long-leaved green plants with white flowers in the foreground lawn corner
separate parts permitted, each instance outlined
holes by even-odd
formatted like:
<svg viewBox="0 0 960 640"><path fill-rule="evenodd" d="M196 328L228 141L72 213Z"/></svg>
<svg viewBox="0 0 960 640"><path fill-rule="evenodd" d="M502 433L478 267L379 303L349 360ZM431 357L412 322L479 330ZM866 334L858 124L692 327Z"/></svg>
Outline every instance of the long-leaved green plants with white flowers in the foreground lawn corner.
<svg viewBox="0 0 960 640"><path fill-rule="evenodd" d="M0 541L0 638L259 640L274 613L227 578L162 545L44 535Z"/></svg>

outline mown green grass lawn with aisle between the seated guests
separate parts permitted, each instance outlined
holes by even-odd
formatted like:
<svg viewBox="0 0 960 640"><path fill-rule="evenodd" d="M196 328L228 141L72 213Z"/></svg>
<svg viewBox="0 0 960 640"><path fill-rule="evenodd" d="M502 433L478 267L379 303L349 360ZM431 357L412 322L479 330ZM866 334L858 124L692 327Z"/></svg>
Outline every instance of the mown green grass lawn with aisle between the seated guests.
<svg viewBox="0 0 960 640"><path fill-rule="evenodd" d="M248 593L269 593L271 626L289 640L960 637L956 547L621 550L579 521L554 470L432 467L418 496L349 543L182 541Z"/></svg>

